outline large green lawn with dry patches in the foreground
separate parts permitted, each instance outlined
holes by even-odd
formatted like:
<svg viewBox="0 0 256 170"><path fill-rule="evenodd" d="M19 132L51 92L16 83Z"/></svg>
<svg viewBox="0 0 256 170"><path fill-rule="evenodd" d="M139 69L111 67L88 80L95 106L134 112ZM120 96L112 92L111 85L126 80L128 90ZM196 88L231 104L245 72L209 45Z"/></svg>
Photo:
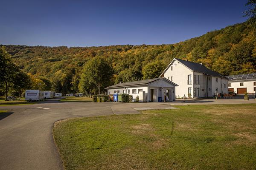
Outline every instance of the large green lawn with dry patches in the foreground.
<svg viewBox="0 0 256 170"><path fill-rule="evenodd" d="M75 118L53 135L67 170L256 169L256 105Z"/></svg>

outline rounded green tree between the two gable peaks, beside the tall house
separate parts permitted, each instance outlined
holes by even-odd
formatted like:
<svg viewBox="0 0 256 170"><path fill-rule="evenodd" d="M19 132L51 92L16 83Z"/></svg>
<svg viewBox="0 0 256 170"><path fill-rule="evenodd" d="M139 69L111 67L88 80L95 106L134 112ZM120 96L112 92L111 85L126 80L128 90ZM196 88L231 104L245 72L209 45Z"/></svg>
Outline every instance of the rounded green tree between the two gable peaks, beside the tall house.
<svg viewBox="0 0 256 170"><path fill-rule="evenodd" d="M164 69L165 65L159 60L148 63L142 69L143 79L157 78L164 71Z"/></svg>

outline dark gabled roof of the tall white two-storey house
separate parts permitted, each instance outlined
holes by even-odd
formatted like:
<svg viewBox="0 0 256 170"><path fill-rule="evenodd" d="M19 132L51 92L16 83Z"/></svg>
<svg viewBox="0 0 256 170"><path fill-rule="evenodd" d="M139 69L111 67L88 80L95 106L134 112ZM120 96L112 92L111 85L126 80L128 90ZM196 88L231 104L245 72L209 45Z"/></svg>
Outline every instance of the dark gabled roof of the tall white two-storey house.
<svg viewBox="0 0 256 170"><path fill-rule="evenodd" d="M183 60L183 59L177 59L177 58L174 58L172 60L172 62L174 60L177 60L178 62L180 62L181 64L183 64L187 68L189 68L191 71L203 73L203 74L206 74L206 75L209 75L209 76L221 77L221 78L227 79L227 77L224 77L223 75L219 74L216 71L210 70L209 68L205 67L202 64L199 64L199 63L196 63L196 62L186 61L186 60ZM167 68L163 71L163 73L160 75L160 77L166 72L166 70L170 67L172 62L167 66Z"/></svg>

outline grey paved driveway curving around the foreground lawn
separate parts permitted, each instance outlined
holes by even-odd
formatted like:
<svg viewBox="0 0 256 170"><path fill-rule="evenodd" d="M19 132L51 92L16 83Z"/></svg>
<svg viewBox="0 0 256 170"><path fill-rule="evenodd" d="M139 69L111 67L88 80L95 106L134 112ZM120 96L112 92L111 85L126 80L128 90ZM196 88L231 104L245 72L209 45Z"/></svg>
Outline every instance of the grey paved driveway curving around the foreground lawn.
<svg viewBox="0 0 256 170"><path fill-rule="evenodd" d="M166 109L183 104L256 103L255 100L188 100L172 103L92 103L47 100L35 105L0 106L0 170L61 170L52 139L54 122L78 116L140 113L141 108ZM2 113L0 113L2 114ZM3 115L3 114L2 114Z"/></svg>

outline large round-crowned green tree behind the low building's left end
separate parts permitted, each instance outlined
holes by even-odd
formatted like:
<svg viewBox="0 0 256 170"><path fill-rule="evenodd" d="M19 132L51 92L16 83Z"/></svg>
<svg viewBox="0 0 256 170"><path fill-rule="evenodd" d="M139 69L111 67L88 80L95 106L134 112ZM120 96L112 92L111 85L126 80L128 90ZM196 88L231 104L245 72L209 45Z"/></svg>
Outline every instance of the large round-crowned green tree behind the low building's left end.
<svg viewBox="0 0 256 170"><path fill-rule="evenodd" d="M84 65L81 76L88 81L88 84L96 85L101 94L101 88L108 84L113 76L113 68L102 57L95 57Z"/></svg>

